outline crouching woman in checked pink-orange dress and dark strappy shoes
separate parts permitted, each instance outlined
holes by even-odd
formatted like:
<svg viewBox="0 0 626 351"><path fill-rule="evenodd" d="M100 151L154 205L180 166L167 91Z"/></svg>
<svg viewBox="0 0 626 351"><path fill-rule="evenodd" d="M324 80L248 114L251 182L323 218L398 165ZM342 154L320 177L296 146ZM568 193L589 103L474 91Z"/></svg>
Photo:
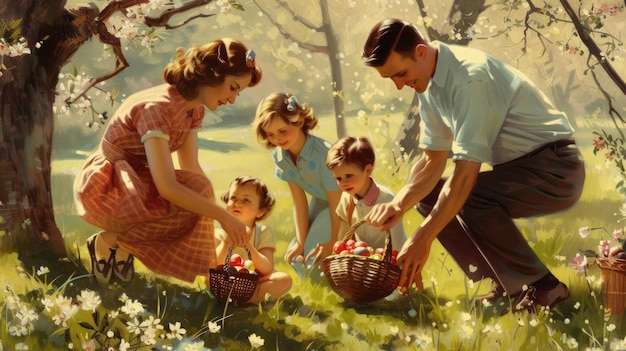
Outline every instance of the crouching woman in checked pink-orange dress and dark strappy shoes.
<svg viewBox="0 0 626 351"><path fill-rule="evenodd" d="M103 229L87 239L98 283L130 281L134 258L183 281L207 276L217 265L214 220L234 245L248 242L245 225L215 202L197 131L205 107L234 104L261 77L254 52L224 38L178 49L163 71L166 84L122 103L74 183L79 215Z"/></svg>

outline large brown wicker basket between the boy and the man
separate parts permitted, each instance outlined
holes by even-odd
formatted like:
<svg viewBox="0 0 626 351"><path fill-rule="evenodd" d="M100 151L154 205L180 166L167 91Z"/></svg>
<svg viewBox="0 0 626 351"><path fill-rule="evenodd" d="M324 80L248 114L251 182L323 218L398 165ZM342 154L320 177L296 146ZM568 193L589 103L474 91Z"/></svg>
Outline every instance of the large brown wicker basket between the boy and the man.
<svg viewBox="0 0 626 351"><path fill-rule="evenodd" d="M354 240L354 231L364 221L354 223L343 241ZM347 302L366 304L391 294L400 280L400 267L391 263L391 233L385 232L382 260L357 255L332 255L324 259L324 276L330 287Z"/></svg>

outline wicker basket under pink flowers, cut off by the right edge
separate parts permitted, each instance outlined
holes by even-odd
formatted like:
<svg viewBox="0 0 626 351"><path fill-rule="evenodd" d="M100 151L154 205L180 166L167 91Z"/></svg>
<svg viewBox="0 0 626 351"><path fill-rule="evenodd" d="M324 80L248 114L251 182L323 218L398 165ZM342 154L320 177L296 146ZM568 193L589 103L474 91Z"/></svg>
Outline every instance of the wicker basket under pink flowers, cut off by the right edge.
<svg viewBox="0 0 626 351"><path fill-rule="evenodd" d="M602 272L604 305L621 317L626 309L626 260L598 257L596 263Z"/></svg>

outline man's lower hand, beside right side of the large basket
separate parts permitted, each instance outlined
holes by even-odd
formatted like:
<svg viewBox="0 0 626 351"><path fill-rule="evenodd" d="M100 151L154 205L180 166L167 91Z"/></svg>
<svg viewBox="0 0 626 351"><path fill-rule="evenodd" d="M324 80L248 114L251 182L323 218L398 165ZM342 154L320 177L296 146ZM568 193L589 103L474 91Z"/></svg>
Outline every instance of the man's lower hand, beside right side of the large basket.
<svg viewBox="0 0 626 351"><path fill-rule="evenodd" d="M404 243L398 253L396 263L402 266L402 274L400 274L398 286L407 292L413 283L415 283L418 289L424 288L422 269L430 255L432 240L422 239L423 237L419 231L416 232Z"/></svg>

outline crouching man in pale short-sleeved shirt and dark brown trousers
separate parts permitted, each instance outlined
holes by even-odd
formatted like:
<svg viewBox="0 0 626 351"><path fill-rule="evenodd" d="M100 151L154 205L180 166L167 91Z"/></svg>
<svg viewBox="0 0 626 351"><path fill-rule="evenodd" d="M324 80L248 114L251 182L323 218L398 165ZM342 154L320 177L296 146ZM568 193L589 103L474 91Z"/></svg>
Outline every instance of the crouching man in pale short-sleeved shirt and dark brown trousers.
<svg viewBox="0 0 626 351"><path fill-rule="evenodd" d="M376 24L363 60L398 89L419 94L422 157L394 200L366 221L392 227L412 207L425 218L398 254L399 285L422 286L437 238L466 275L491 278L518 310L569 296L514 218L558 212L582 192L585 168L567 117L521 72L467 47L428 43L412 24ZM443 178L449 154L454 171ZM492 170L481 172L481 165ZM526 289L525 287L528 287Z"/></svg>

